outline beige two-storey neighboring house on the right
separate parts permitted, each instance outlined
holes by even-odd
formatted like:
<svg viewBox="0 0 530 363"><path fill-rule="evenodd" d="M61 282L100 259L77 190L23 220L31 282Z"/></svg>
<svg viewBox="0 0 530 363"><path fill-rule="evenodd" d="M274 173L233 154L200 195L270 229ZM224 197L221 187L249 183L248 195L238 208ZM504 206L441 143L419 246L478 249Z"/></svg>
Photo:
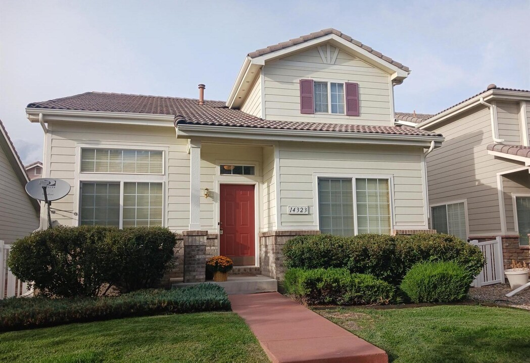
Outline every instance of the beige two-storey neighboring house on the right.
<svg viewBox="0 0 530 363"><path fill-rule="evenodd" d="M396 120L446 138L427 157L431 228L479 241L501 236L505 267L529 261L530 91L490 85L436 115Z"/></svg>

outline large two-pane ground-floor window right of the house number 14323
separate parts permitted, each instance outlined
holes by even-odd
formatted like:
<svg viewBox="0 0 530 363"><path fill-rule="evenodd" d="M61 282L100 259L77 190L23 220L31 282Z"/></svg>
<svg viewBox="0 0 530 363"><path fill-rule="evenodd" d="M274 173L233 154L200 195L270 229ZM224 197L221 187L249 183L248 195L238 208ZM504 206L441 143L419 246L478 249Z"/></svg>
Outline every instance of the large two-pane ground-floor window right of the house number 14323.
<svg viewBox="0 0 530 363"><path fill-rule="evenodd" d="M388 179L319 178L318 188L319 225L322 233L390 234L391 209Z"/></svg>

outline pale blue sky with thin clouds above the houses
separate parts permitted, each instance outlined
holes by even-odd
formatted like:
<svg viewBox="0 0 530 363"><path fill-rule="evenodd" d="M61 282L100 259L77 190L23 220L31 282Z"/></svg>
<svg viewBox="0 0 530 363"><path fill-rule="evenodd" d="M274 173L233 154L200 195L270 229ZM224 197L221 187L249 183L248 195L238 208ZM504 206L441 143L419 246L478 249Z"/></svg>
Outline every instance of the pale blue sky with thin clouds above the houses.
<svg viewBox="0 0 530 363"><path fill-rule="evenodd" d="M91 90L224 100L245 55L338 29L412 69L396 111L435 113L485 89L530 89L530 0L0 0L0 118L42 159L30 102Z"/></svg>

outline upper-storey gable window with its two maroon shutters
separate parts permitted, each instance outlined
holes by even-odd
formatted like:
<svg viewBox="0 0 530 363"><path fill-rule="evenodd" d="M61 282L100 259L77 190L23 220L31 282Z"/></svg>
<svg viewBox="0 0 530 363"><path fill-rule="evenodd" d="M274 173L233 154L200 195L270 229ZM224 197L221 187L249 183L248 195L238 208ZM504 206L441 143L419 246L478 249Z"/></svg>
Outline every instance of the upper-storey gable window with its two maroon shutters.
<svg viewBox="0 0 530 363"><path fill-rule="evenodd" d="M359 116L359 84L301 79L300 112Z"/></svg>

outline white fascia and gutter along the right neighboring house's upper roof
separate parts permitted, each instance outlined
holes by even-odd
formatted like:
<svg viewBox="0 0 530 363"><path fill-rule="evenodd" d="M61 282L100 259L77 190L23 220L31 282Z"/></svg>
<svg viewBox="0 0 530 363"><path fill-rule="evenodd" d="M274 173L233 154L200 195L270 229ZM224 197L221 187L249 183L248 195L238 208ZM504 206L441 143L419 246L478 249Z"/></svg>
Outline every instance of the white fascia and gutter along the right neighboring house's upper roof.
<svg viewBox="0 0 530 363"><path fill-rule="evenodd" d="M530 100L529 92L518 92L518 91L509 91L503 89L490 89L487 92L476 95L475 97L468 99L466 102L463 102L459 105L449 108L436 116L432 116L430 119L425 120L416 125L418 129L428 129L431 126L434 126L442 121L447 120L449 117L452 117L458 113L465 112L470 108L480 105L480 99L483 98L484 101L497 100L497 101L519 101L521 99Z"/></svg>

